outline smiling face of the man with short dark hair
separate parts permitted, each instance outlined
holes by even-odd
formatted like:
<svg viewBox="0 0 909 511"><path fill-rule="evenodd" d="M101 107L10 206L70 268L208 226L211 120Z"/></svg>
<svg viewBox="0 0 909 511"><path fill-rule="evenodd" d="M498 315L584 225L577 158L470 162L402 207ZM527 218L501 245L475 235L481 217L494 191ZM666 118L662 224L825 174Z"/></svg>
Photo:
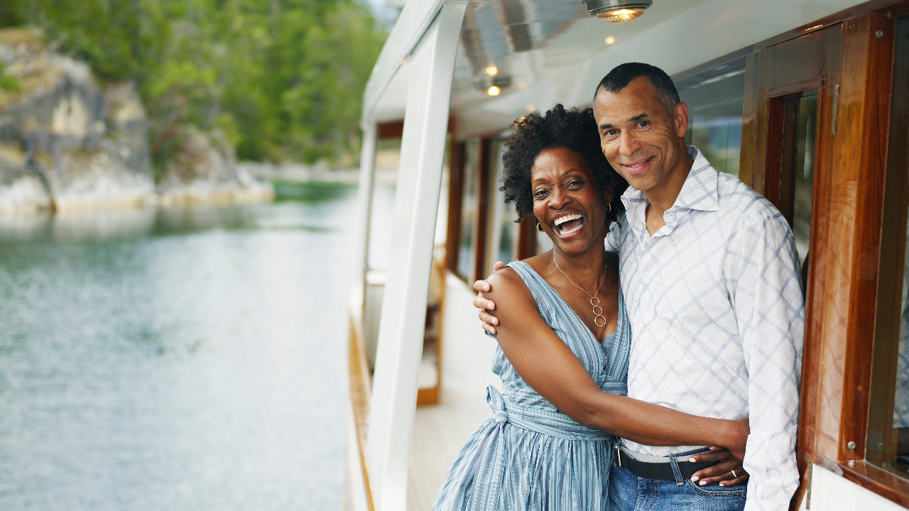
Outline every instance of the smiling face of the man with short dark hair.
<svg viewBox="0 0 909 511"><path fill-rule="evenodd" d="M648 197L678 194L690 166L681 139L688 127L684 103L669 115L654 85L639 76L616 93L601 88L594 117L603 154L629 185Z"/></svg>

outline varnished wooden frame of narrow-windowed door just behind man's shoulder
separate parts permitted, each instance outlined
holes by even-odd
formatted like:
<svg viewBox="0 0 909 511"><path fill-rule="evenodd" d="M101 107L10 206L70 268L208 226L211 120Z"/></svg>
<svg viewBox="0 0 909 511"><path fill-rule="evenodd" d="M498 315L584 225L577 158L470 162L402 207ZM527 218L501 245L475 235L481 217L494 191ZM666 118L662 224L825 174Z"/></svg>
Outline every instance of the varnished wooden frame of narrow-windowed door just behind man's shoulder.
<svg viewBox="0 0 909 511"><path fill-rule="evenodd" d="M785 125L793 125L792 113L786 115L788 100L798 97L807 90L817 90L818 112L815 139L814 199L812 204L812 227L810 233L812 252L808 263L806 284L807 300L805 310L805 355L803 360L802 406L800 407L798 434L798 465L803 478L800 493L794 499L798 502L804 492L804 475L808 460L812 459L814 437L819 408L806 403L817 403L817 389L814 378L816 358L812 356L808 339L819 338L823 329L824 313L814 306L823 306L823 300L812 296L824 296L824 279L817 275L827 266L829 245L829 212L825 206L829 195L832 174L833 112L836 103L836 86L841 79L841 48L843 26L828 25L824 30L802 35L793 40L771 45L760 52L748 55L746 59L746 87L744 95L744 123L742 140L742 179L756 191L766 196L786 215L792 223L793 205L784 204L789 200L791 185L783 174ZM786 183L784 183L786 181ZM822 302L822 303L818 303ZM816 371L814 371L816 372Z"/></svg>

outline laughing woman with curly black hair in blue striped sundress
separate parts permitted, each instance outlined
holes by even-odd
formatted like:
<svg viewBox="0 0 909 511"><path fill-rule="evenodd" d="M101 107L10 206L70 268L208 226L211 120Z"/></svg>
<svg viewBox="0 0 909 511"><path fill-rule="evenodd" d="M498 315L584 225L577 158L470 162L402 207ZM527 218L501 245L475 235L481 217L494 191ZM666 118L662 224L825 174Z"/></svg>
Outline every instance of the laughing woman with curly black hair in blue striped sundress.
<svg viewBox="0 0 909 511"><path fill-rule="evenodd" d="M553 249L489 277L500 318L487 389L494 418L468 439L435 509L594 510L608 506L614 437L744 452L746 421L689 416L627 396L631 332L616 255L604 237L627 184L600 151L594 115L555 105L513 125L502 189ZM580 397L578 397L580 396ZM606 433L609 432L609 433ZM741 483L740 470L733 481Z"/></svg>

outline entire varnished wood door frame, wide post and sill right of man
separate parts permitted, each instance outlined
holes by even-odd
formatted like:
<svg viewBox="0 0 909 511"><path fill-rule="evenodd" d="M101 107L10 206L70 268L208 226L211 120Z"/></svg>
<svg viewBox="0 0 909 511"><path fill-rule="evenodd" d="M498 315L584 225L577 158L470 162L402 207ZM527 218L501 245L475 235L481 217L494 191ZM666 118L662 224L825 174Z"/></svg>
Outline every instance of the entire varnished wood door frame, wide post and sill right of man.
<svg viewBox="0 0 909 511"><path fill-rule="evenodd" d="M783 155L772 130L784 121L780 100L815 87L819 95L798 437L803 485L794 506L809 462L909 506L904 479L864 463L893 11L905 5L854 15L747 57L741 175L778 206Z"/></svg>

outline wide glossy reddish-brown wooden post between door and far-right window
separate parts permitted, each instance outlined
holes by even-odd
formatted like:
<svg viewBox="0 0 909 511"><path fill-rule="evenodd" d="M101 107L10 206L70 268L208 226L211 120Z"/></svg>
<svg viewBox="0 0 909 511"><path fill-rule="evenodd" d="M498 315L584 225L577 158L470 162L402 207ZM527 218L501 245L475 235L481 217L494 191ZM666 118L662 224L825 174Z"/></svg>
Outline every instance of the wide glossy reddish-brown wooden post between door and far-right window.
<svg viewBox="0 0 909 511"><path fill-rule="evenodd" d="M844 22L834 160L828 202L814 457L864 459L880 250L891 45L876 32L893 21L863 15ZM891 36L892 40L892 36ZM883 137L883 138L882 138Z"/></svg>

